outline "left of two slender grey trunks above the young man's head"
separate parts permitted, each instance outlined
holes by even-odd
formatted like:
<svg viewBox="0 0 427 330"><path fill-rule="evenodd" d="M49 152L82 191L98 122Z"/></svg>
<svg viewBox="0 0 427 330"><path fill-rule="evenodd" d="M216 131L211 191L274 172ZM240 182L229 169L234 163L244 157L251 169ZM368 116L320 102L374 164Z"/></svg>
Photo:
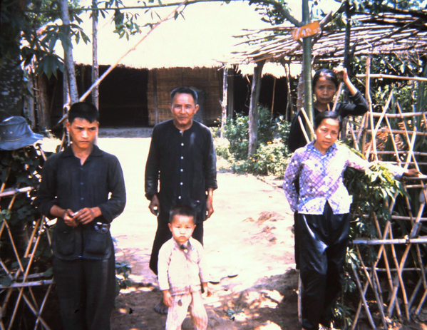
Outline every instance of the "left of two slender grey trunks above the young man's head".
<svg viewBox="0 0 427 330"><path fill-rule="evenodd" d="M71 44L71 31L70 29L70 15L68 13L68 3L67 0L60 0L59 6L61 7L61 19L63 25L68 27L68 38L70 39ZM73 49L71 47L63 46L63 58L66 64L66 71L68 73L68 88L70 90L70 101L71 104L78 101L78 92L77 92L77 82L76 82L76 71L74 70L74 60L73 60Z"/></svg>

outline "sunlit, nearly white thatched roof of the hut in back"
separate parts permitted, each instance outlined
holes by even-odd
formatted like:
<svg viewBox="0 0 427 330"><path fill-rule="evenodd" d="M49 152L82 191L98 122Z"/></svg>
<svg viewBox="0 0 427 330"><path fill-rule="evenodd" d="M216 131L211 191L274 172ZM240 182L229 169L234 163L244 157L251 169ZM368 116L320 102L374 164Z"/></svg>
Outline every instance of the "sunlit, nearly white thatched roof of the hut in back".
<svg viewBox="0 0 427 330"><path fill-rule="evenodd" d="M156 9L160 16L166 16L173 8ZM151 21L149 14L140 10L138 22L142 26ZM267 27L252 7L243 1L230 4L202 3L187 6L183 12L185 19L160 24L143 43L126 56L120 65L130 68L175 68L175 67L217 67L220 68L230 58L237 40L234 35L243 29ZM91 36L91 19L82 16L83 29ZM137 43L148 31L126 38L118 38L113 33L111 16L100 17L98 24L98 63L110 65ZM91 65L92 46L80 41L74 45L74 60L78 64Z"/></svg>

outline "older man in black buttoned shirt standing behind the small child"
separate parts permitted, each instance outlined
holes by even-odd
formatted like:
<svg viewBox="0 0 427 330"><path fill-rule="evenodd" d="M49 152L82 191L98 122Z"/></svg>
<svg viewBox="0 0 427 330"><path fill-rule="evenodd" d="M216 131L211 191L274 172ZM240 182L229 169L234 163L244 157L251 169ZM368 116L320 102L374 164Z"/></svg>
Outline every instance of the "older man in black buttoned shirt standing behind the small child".
<svg viewBox="0 0 427 330"><path fill-rule="evenodd" d="M150 269L158 274L158 252L172 237L169 211L175 205L190 205L197 212L192 237L203 243L203 221L212 213L213 191L217 188L216 156L210 130L192 120L199 109L197 93L179 87L170 93L173 119L155 125L145 166L145 197L158 217L150 258ZM160 181L160 190L158 182ZM155 310L164 314L160 301Z"/></svg>

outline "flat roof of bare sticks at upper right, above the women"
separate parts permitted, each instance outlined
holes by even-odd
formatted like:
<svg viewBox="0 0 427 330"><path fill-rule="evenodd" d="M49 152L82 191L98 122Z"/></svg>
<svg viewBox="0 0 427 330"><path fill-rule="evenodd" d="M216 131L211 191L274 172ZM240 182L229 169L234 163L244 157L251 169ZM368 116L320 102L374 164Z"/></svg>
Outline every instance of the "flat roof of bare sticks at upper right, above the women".
<svg viewBox="0 0 427 330"><path fill-rule="evenodd" d="M355 54L417 51L427 53L427 10L417 16L406 14L377 14L353 16L351 47ZM302 61L302 43L291 36L294 26L274 26L248 31L242 35L242 50L235 52L235 62L277 61L287 58ZM331 24L315 37L312 54L317 61L343 61L345 29Z"/></svg>

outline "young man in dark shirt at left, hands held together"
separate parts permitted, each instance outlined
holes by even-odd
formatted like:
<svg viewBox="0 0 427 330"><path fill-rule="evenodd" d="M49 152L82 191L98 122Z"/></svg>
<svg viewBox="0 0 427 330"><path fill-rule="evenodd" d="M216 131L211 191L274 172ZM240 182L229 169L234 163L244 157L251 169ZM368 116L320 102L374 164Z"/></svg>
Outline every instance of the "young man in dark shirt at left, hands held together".
<svg viewBox="0 0 427 330"><path fill-rule="evenodd" d="M74 103L66 129L71 145L43 166L36 206L57 218L53 277L66 330L110 329L115 256L110 222L125 208L123 172L114 155L93 144L98 110Z"/></svg>

